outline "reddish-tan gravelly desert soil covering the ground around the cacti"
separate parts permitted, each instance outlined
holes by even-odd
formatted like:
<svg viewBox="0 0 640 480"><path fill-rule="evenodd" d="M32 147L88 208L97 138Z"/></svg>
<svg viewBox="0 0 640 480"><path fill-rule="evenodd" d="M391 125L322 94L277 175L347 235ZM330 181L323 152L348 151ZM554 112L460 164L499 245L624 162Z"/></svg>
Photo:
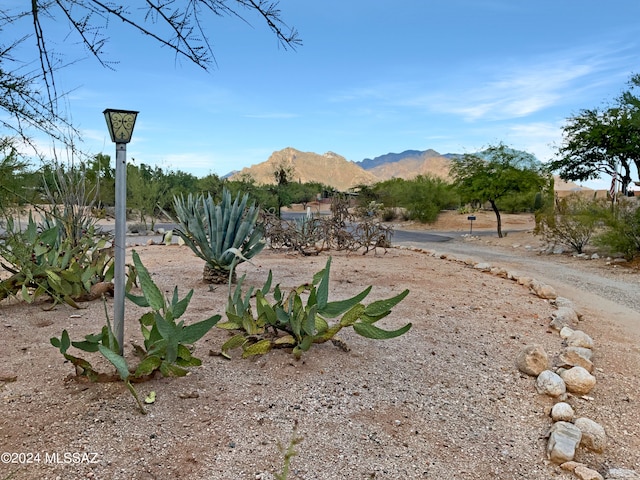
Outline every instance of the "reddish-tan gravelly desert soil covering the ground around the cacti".
<svg viewBox="0 0 640 480"><path fill-rule="evenodd" d="M531 223L507 216L507 239L459 238L438 248L457 246L458 258L460 252L511 252L505 267L526 269L527 258L543 258L514 247L539 243ZM474 225L477 231L494 227L490 217ZM430 228L461 233L468 223L453 215ZM181 295L194 290L187 322L223 314L226 287L203 284L203 262L186 247L140 245L129 255L133 248L167 294L176 285ZM214 354L228 334L214 328L196 344L201 367L137 386L143 396L156 393L147 415L121 383L75 380L72 366L49 343L65 328L72 339L99 331L102 302L80 310L1 303L0 453L14 455L2 453L0 479L272 479L283 468L280 447L289 444L296 424L301 441L289 479L576 478L546 460L555 401L537 394L534 379L515 367L525 345L542 345L551 357L561 351L558 333L548 326L555 309L549 301L464 262L407 248L309 257L265 250L239 271L246 285L262 286L271 269L283 288L293 287L310 281L329 256L331 299L368 285L368 300L408 288L409 296L381 324L391 329L411 322L411 330L387 341L341 332L349 351L327 343L295 361L287 350L250 360L236 352L225 360ZM605 260L544 260L603 277L614 269ZM614 281L638 285L637 270L615 268ZM580 286L554 280L554 271L536 270L574 302L583 314L578 328L596 344L598 383L588 397L568 402L608 434L604 453L581 448L576 460L605 476L611 468L640 472L638 312L594 301ZM112 299L107 308L111 312ZM131 303L126 308L131 355L130 342L141 342L137 318L143 310Z"/></svg>

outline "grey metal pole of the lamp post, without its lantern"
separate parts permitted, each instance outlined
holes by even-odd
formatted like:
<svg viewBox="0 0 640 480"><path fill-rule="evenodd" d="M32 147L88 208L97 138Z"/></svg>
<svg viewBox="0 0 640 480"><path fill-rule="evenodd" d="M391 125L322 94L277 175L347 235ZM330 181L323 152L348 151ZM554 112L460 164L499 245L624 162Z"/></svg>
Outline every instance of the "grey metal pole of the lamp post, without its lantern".
<svg viewBox="0 0 640 480"><path fill-rule="evenodd" d="M116 236L113 274L113 330L120 355L124 349L125 234L127 230L127 144L116 143Z"/></svg>

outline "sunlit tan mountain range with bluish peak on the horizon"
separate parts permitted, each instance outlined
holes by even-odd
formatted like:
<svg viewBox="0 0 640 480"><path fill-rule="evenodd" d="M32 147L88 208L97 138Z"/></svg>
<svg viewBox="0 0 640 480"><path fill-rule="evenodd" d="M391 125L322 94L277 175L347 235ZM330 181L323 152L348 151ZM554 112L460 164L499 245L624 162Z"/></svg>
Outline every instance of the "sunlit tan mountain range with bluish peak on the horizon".
<svg viewBox="0 0 640 480"><path fill-rule="evenodd" d="M345 191L357 185L372 185L391 178L409 180L418 175L448 180L451 158L454 156L441 155L431 149L406 150L352 162L333 152L318 154L287 147L273 152L262 163L232 172L228 178L238 179L248 175L258 184L271 185L276 182L274 172L284 166L291 169L295 181L319 182Z"/></svg>

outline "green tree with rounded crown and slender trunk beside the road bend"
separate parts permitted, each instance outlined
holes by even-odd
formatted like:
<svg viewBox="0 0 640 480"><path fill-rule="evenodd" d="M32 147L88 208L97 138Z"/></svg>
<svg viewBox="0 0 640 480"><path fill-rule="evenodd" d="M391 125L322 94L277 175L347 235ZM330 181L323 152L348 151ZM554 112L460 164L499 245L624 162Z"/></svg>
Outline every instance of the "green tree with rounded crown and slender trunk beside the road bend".
<svg viewBox="0 0 640 480"><path fill-rule="evenodd" d="M500 238L503 234L498 200L514 193L542 191L551 184L550 175L535 156L502 143L480 154L466 154L454 160L451 173L463 201L489 202Z"/></svg>

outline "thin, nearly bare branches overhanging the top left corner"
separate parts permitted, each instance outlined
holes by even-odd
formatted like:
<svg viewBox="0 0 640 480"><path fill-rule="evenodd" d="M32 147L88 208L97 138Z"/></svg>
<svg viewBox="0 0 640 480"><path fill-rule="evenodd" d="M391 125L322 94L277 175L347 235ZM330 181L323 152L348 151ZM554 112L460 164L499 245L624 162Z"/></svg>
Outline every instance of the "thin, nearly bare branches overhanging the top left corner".
<svg viewBox="0 0 640 480"><path fill-rule="evenodd" d="M10 3L14 6L0 6L0 126L25 141L33 129L66 145L72 143L69 137L77 137L60 106L65 92L56 84L56 71L78 60L68 58L66 47L73 44L83 46L100 65L113 68L115 60L107 58L105 45L114 21L204 70L216 63L209 32L213 17L245 23L258 17L285 49L301 44L296 29L281 19L277 0ZM32 33L24 33L29 30Z"/></svg>

